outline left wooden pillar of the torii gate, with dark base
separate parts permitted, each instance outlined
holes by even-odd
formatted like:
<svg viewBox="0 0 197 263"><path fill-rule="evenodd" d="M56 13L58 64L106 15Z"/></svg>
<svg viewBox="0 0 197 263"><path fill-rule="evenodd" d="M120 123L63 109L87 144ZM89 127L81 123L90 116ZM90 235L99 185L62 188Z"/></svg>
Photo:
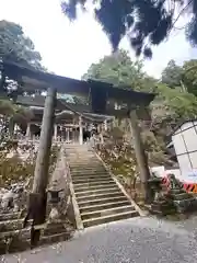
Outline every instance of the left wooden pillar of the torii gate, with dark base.
<svg viewBox="0 0 197 263"><path fill-rule="evenodd" d="M53 140L55 105L56 90L49 88L45 100L39 148L34 171L33 190L30 195L28 213L25 218L24 226L30 218L33 218L33 225L40 225L45 221L47 202L46 187L48 183L48 168ZM37 243L39 240L39 230L34 230L34 228L32 229L32 245Z"/></svg>

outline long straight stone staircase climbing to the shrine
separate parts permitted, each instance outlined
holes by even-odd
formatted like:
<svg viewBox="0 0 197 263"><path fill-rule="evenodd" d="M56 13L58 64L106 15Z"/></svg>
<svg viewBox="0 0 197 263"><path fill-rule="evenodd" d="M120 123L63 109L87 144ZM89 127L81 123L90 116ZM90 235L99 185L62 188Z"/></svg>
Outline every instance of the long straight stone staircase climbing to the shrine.
<svg viewBox="0 0 197 263"><path fill-rule="evenodd" d="M82 228L140 216L140 208L88 145L69 145L66 152Z"/></svg>

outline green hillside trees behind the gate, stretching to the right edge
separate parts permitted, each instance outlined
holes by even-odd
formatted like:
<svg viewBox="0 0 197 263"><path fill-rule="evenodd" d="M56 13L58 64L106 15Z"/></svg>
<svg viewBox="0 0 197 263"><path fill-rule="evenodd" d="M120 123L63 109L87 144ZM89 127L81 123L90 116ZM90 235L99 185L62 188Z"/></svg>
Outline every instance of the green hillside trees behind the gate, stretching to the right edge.
<svg viewBox="0 0 197 263"><path fill-rule="evenodd" d="M157 93L151 104L152 129L166 135L177 122L197 116L197 75L185 70L190 64L197 65L197 60L185 61L183 67L170 61L161 80L158 80L144 72L142 61L132 61L129 54L120 49L92 64L83 79L103 80Z"/></svg>

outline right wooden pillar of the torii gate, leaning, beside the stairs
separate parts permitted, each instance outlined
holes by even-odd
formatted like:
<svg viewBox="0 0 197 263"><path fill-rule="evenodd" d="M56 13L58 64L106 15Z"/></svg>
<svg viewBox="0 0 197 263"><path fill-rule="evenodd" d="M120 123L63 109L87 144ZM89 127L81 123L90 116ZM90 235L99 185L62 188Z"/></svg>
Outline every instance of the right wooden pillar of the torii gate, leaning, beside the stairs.
<svg viewBox="0 0 197 263"><path fill-rule="evenodd" d="M129 117L130 117L129 124L132 132L132 142L134 142L134 148L136 152L137 164L139 168L142 191L144 194L144 202L149 203L151 202L151 188L149 187L149 182L148 182L148 180L150 179L150 171L149 171L148 160L147 160L142 141L141 141L136 110L130 111Z"/></svg>

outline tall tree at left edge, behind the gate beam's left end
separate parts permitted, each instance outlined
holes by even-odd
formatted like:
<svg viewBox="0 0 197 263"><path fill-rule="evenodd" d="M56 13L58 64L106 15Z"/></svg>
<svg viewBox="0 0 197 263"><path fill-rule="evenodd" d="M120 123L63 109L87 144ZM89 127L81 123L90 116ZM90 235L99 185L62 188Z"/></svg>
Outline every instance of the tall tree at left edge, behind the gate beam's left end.
<svg viewBox="0 0 197 263"><path fill-rule="evenodd" d="M0 62L10 61L25 67L42 69L42 57L35 50L34 43L23 33L23 28L13 22L0 21ZM0 93L15 100L18 94L23 94L21 83L12 81L0 68Z"/></svg>

